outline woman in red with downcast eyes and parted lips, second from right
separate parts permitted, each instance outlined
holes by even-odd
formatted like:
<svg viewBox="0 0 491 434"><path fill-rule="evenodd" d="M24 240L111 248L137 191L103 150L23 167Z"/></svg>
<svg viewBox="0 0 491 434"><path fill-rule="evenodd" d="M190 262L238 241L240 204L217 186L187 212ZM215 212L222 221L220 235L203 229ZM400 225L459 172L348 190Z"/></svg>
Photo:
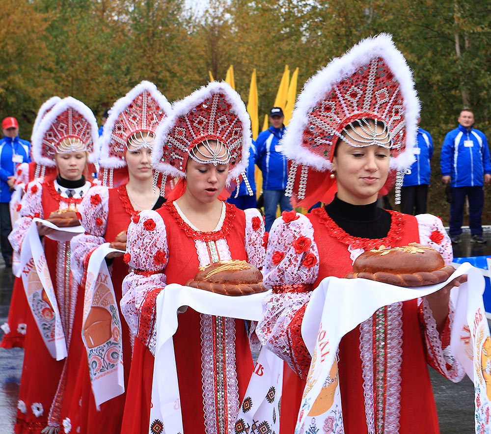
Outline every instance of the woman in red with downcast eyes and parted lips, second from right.
<svg viewBox="0 0 491 434"><path fill-rule="evenodd" d="M123 314L135 344L122 432L161 432L149 420L154 373L155 299L165 285L184 285L200 266L227 259L261 267L262 217L223 202L225 186L244 171L250 123L240 96L213 82L173 105L157 131L156 169L181 178L157 212L146 211L128 228ZM174 349L185 433L231 433L252 373L243 320L200 314L178 316ZM184 392L184 393L183 393ZM150 431L149 431L150 430Z"/></svg>

